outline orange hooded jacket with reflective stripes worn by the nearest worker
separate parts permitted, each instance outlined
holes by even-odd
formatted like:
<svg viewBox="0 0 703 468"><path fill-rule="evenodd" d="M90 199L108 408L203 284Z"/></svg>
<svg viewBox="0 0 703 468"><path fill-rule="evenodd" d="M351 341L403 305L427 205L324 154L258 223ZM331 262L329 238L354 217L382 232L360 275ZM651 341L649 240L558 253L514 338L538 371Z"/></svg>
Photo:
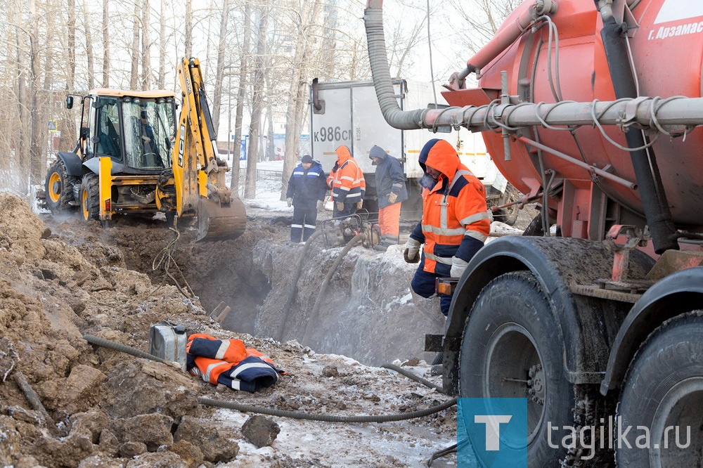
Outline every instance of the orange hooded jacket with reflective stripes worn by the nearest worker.
<svg viewBox="0 0 703 468"><path fill-rule="evenodd" d="M488 237L491 221L483 183L461 164L451 143L432 142L420 153L420 165L441 174L423 190L423 219L411 238L425 244L424 270L449 276L452 257L469 261Z"/></svg>

